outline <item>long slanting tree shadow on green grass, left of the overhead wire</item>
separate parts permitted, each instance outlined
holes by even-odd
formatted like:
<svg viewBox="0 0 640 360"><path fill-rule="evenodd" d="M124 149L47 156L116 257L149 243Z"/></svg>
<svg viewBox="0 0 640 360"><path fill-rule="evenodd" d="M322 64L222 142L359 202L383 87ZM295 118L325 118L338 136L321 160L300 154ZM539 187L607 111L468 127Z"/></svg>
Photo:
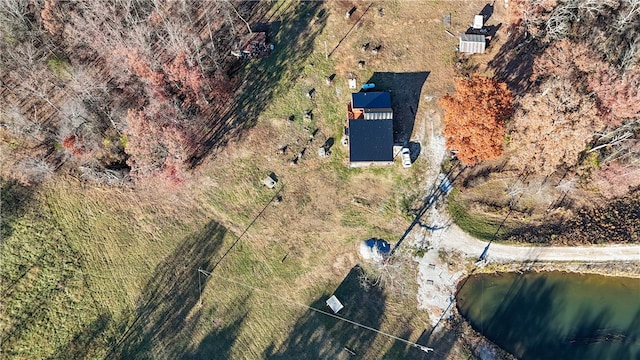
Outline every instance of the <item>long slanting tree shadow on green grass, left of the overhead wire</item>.
<svg viewBox="0 0 640 360"><path fill-rule="evenodd" d="M199 301L200 285L207 281L198 277L197 269L210 267L225 233L222 226L209 222L156 266L137 309L120 325L122 335L107 358L177 359L188 353L189 333L199 320L199 313L191 312Z"/></svg>

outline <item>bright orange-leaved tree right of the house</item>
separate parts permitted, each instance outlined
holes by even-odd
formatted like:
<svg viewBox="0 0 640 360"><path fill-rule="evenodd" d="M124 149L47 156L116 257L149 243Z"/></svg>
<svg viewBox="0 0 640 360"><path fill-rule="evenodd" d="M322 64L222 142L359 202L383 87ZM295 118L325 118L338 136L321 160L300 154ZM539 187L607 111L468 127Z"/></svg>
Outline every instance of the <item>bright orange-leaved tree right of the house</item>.
<svg viewBox="0 0 640 360"><path fill-rule="evenodd" d="M440 99L447 147L465 165L499 157L512 102L505 83L477 75L458 80L455 92Z"/></svg>

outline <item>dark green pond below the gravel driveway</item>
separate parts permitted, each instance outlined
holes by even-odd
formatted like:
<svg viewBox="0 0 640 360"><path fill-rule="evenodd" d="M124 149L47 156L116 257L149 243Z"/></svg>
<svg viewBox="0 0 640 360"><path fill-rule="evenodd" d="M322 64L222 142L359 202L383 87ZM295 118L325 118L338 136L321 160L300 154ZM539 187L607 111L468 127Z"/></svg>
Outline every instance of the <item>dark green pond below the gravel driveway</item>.
<svg viewBox="0 0 640 360"><path fill-rule="evenodd" d="M481 274L462 285L457 304L519 359L640 359L640 279Z"/></svg>

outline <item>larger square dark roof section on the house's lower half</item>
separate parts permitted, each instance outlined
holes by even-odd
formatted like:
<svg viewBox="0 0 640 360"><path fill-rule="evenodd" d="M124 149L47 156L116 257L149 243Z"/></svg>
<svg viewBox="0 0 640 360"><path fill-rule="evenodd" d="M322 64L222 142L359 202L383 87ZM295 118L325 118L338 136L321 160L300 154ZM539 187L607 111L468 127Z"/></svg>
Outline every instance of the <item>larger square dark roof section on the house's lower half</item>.
<svg viewBox="0 0 640 360"><path fill-rule="evenodd" d="M393 161L393 120L349 120L351 162Z"/></svg>

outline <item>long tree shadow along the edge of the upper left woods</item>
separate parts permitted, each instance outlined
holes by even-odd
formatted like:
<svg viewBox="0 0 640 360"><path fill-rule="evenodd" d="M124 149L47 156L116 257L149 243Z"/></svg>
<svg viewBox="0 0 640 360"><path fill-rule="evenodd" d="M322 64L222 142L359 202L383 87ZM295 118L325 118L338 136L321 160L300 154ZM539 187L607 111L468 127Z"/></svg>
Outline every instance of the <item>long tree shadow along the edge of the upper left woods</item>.
<svg viewBox="0 0 640 360"><path fill-rule="evenodd" d="M314 39L324 29L327 14L318 1L286 3L287 7L295 8L278 9L291 15L281 18L277 32L269 34L274 51L267 57L249 61L239 71L239 86L233 103L221 113L214 113L199 138L194 139L193 155L189 160L191 167L196 167L216 149L253 127L280 90L289 81L295 81L304 69L306 59L313 52ZM281 7L282 4L271 3L271 6ZM266 14L268 9L263 11Z"/></svg>

